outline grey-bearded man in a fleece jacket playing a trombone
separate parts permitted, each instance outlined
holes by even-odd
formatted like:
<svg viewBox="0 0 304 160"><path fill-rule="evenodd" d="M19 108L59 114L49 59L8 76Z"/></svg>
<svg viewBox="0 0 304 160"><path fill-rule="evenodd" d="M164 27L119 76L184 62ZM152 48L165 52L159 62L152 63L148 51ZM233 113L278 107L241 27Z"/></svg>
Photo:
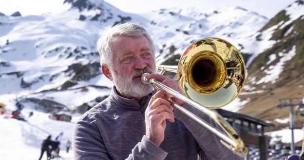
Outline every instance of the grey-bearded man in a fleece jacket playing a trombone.
<svg viewBox="0 0 304 160"><path fill-rule="evenodd" d="M180 92L176 81L155 74L152 39L136 24L116 25L98 40L103 74L112 94L86 112L73 136L76 160L239 160L209 130L173 110L184 102L141 82L143 73ZM184 105L187 107L187 105ZM213 126L206 115L199 115Z"/></svg>

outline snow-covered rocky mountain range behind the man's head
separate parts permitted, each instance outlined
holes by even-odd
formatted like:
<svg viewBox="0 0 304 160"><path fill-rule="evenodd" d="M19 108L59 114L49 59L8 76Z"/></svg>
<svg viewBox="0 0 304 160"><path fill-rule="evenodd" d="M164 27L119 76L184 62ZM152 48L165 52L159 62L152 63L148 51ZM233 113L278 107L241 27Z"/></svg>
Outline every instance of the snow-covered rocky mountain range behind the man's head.
<svg viewBox="0 0 304 160"><path fill-rule="evenodd" d="M100 70L95 44L104 29L117 23L147 28L161 64L175 61L191 43L210 36L251 54L246 39L268 21L240 7L211 12L171 8L134 15L100 0L65 0L64 5L69 9L42 16L0 16L1 101L13 105L18 98L39 108L70 110L94 106L112 87Z"/></svg>

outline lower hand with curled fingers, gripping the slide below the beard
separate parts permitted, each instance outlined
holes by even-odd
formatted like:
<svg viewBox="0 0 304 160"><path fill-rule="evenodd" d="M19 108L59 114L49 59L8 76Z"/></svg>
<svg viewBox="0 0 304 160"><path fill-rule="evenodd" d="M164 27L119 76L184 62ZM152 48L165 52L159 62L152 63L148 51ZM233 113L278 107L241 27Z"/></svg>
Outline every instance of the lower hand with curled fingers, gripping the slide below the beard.
<svg viewBox="0 0 304 160"><path fill-rule="evenodd" d="M146 136L157 146L164 141L166 119L174 122L173 108L170 102L164 99L166 94L164 90L156 92L145 112Z"/></svg>

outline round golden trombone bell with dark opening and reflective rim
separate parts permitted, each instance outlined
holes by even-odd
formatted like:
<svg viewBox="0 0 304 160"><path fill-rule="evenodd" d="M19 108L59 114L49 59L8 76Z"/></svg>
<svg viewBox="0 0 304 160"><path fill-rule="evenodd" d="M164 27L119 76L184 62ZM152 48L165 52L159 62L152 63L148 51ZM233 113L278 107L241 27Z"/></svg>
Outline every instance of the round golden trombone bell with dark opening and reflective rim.
<svg viewBox="0 0 304 160"><path fill-rule="evenodd" d="M178 68L172 67L161 65L158 71L177 73L183 94L210 109L232 102L245 83L246 67L241 53L219 38L193 43L181 56Z"/></svg>

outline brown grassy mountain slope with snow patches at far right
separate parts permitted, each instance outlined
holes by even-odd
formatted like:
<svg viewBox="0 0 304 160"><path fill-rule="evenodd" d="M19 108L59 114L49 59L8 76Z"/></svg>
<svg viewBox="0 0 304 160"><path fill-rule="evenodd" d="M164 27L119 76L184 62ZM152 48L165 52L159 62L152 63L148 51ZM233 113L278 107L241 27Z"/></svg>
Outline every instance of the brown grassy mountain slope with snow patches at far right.
<svg viewBox="0 0 304 160"><path fill-rule="evenodd" d="M289 107L278 109L279 99L304 96L304 1L298 0L286 7L258 32L258 42L269 41L267 49L254 57L248 66L245 91L257 94L240 96L250 98L240 112L268 120L278 127L274 119L289 116ZM247 88L247 89L246 89ZM295 108L296 127L301 128L304 118Z"/></svg>

